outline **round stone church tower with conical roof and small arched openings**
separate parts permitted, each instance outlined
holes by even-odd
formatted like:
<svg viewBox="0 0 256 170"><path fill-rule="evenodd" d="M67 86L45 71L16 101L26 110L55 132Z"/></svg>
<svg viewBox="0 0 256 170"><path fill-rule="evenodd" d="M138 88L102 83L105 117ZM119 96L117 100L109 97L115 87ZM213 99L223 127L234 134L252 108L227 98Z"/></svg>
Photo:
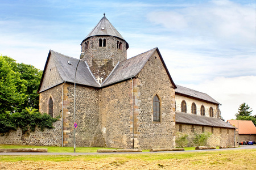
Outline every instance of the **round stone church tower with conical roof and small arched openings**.
<svg viewBox="0 0 256 170"><path fill-rule="evenodd" d="M104 17L81 42L83 58L96 80L101 84L118 62L127 59L129 44Z"/></svg>

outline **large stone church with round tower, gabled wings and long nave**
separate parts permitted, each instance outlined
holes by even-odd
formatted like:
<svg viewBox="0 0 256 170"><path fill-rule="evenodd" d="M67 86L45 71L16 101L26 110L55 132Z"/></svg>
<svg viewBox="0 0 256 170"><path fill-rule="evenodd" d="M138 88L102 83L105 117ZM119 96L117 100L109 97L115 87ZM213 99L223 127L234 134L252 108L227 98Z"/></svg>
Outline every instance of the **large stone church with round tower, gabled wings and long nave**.
<svg viewBox="0 0 256 170"><path fill-rule="evenodd" d="M40 82L41 113L60 116L57 145L175 147L177 132L209 131L209 145L233 146L234 126L207 94L177 86L158 48L127 59L129 44L104 17L81 42L80 59L49 50ZM76 79L75 79L76 73ZM75 86L74 86L75 85Z"/></svg>

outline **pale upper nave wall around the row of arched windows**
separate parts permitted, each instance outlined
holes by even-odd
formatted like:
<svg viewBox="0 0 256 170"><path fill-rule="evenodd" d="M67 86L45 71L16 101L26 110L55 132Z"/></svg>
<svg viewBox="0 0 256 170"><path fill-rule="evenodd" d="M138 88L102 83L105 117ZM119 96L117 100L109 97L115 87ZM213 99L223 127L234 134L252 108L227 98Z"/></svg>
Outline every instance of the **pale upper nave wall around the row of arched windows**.
<svg viewBox="0 0 256 170"><path fill-rule="evenodd" d="M207 103L205 101L200 101L200 100L195 100L195 99L191 99L189 97L185 97L185 96L181 96L181 95L175 95L175 101L176 101L176 111L181 112L181 102L185 100L186 104L187 104L187 113L192 113L191 111L191 107L192 107L192 103L196 104L196 114L201 114L200 109L201 109L201 105L204 105L205 108L205 116L210 116L209 115L209 110L210 107L213 108L213 117L217 118L218 115L218 105L217 104L213 104L213 103Z"/></svg>

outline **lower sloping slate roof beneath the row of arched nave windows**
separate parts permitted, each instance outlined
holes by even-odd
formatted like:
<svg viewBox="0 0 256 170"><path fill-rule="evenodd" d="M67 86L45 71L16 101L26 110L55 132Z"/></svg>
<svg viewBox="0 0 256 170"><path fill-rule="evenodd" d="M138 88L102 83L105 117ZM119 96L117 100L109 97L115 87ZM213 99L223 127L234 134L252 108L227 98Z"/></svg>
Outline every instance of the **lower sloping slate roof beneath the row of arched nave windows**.
<svg viewBox="0 0 256 170"><path fill-rule="evenodd" d="M175 122L182 124L192 124L192 125L204 125L204 126L214 126L219 128L232 128L234 126L220 120L219 118L201 116L198 114L190 114L183 112L175 112Z"/></svg>

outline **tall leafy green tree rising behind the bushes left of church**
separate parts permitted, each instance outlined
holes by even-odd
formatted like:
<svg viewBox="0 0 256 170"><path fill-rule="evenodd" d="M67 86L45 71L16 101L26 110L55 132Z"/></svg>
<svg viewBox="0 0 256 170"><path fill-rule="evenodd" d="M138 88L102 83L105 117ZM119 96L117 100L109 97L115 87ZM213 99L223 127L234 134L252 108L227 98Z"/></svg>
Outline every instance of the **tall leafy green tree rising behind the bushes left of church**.
<svg viewBox="0 0 256 170"><path fill-rule="evenodd" d="M39 109L37 94L42 71L34 66L16 63L15 59L0 56L0 112Z"/></svg>

